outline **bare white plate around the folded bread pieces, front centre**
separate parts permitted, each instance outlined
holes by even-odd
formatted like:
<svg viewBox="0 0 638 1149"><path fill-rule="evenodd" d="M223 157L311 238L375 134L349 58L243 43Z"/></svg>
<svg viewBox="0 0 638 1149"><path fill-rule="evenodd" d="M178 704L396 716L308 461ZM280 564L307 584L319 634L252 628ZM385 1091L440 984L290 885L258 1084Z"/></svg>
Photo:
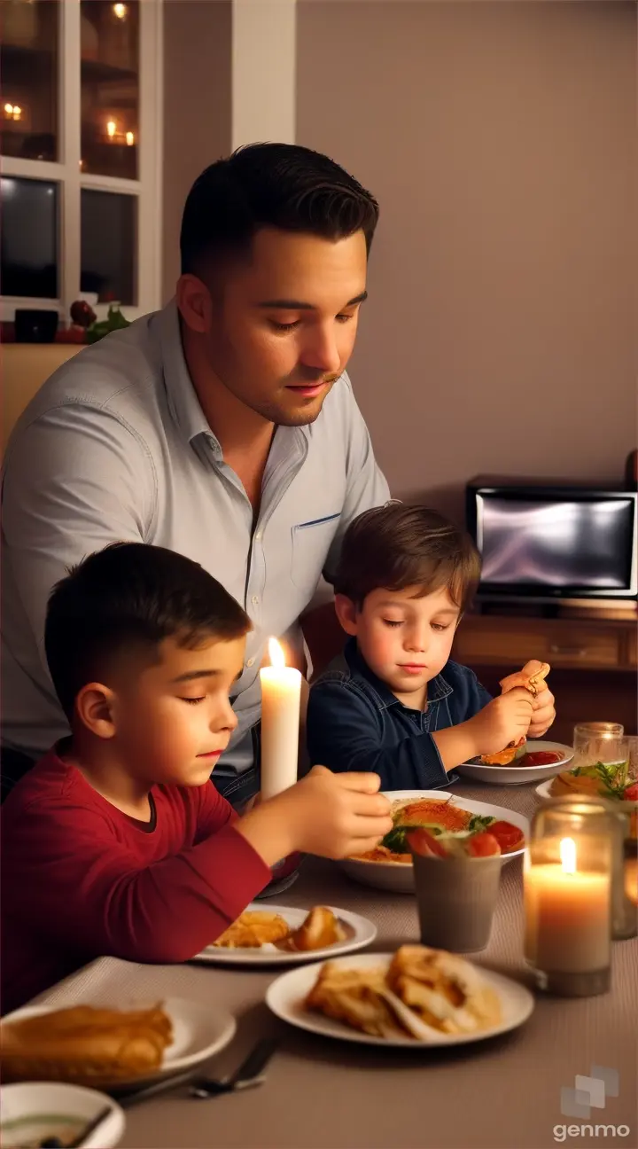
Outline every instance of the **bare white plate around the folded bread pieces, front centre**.
<svg viewBox="0 0 638 1149"><path fill-rule="evenodd" d="M380 965L382 962L390 963L392 954L360 954L358 957L339 958L340 966L350 969L365 969L371 965ZM415 1038L373 1038L368 1033L359 1030L351 1030L342 1021L335 1021L324 1013L311 1013L304 1009L303 1003L306 995L317 981L317 976L321 969L321 963L305 965L298 970L290 970L282 973L280 978L269 986L266 992L266 1004L272 1012L295 1025L299 1030L309 1033L319 1033L325 1038L339 1038L341 1041L355 1041L364 1046L400 1046L402 1049L425 1049L431 1046L462 1046L470 1041L483 1041L485 1038L495 1038L499 1033L507 1033L516 1026L527 1021L535 1002L529 989L511 981L500 973L492 970L481 969L481 977L490 985L500 997L503 1020L491 1030L481 1030L478 1033L436 1033L431 1034L427 1041Z"/></svg>

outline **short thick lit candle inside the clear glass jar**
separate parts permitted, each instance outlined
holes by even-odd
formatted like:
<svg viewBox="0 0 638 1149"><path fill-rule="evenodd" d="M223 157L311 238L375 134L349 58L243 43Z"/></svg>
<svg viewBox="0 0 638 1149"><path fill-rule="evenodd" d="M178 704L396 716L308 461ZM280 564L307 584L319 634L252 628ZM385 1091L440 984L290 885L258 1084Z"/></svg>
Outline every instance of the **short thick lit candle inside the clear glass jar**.
<svg viewBox="0 0 638 1149"><path fill-rule="evenodd" d="M610 955L609 876L579 872L571 838L561 840L560 857L526 871L526 957L547 972L604 970Z"/></svg>

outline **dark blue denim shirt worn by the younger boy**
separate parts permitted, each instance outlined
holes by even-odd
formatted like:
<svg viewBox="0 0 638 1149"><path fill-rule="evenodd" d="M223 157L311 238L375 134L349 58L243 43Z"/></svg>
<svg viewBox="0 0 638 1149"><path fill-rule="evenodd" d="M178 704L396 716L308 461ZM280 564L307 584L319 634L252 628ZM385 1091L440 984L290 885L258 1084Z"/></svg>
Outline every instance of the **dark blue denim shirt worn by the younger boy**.
<svg viewBox="0 0 638 1149"><path fill-rule="evenodd" d="M349 639L310 691L308 749L314 765L371 770L381 789L429 789L450 781L433 733L472 718L491 701L467 666L448 662L428 683L425 710L399 702Z"/></svg>

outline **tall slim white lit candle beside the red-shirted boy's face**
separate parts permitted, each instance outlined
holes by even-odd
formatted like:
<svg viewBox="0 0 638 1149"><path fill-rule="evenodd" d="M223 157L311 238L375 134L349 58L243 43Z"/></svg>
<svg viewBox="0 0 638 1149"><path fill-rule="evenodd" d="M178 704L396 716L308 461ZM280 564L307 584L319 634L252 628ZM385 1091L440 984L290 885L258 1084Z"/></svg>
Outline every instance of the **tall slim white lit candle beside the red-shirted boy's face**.
<svg viewBox="0 0 638 1149"><path fill-rule="evenodd" d="M262 795L275 794L297 780L302 676L287 666L277 639L270 639L271 666L259 671L262 680Z"/></svg>

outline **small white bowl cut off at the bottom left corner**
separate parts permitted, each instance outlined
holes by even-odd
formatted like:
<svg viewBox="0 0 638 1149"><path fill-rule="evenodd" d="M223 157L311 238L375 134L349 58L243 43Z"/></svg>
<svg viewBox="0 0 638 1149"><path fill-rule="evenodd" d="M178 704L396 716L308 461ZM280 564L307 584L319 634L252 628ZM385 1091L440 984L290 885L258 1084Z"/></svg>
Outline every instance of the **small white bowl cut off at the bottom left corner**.
<svg viewBox="0 0 638 1149"><path fill-rule="evenodd" d="M125 1117L117 1102L96 1089L54 1081L21 1081L0 1088L0 1141L2 1149L46 1138L71 1141L102 1109L111 1111L93 1129L81 1149L112 1149L124 1133Z"/></svg>

